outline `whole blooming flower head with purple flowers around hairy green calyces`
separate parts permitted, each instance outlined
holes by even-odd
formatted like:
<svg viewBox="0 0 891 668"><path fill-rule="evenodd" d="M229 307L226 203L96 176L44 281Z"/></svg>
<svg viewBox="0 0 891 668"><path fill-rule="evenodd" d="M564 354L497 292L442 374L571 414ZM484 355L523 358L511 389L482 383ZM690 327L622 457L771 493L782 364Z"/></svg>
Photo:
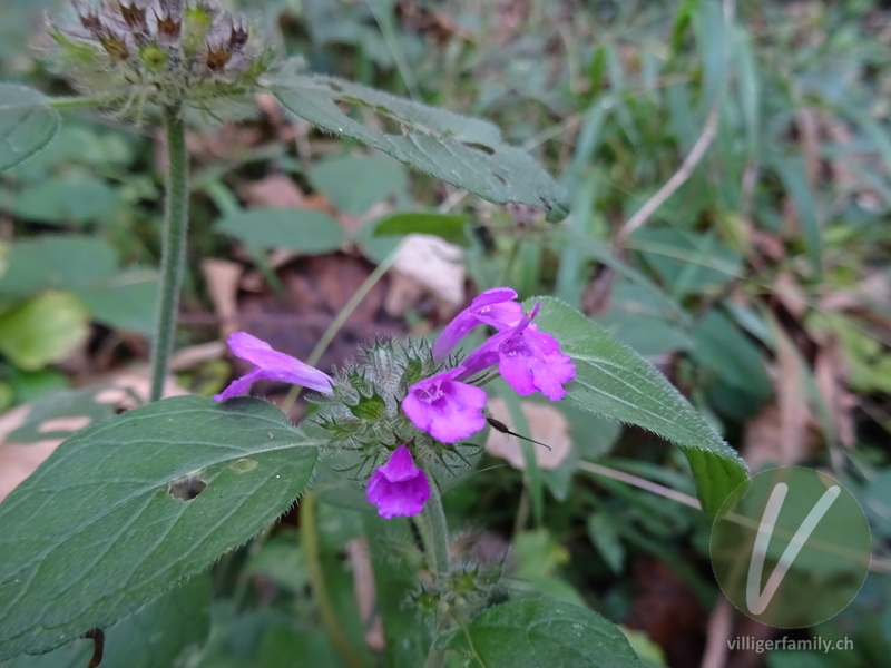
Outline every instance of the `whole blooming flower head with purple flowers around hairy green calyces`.
<svg viewBox="0 0 891 668"><path fill-rule="evenodd" d="M487 291L446 326L432 350L375 341L363 348L364 364L352 363L336 377L236 332L229 336L229 347L254 369L216 399L242 394L261 379L315 390L322 395L317 402L327 406L316 421L332 442L390 453L369 479L368 500L384 518L415 515L430 498L430 481L414 456L430 453L441 460L443 450L486 426L487 395L477 380L488 375L482 372L497 367L518 394L541 392L551 401L566 394L564 385L576 375L558 341L536 326L539 304L523 313L516 299L510 288ZM451 351L479 325L496 333L449 367Z"/></svg>

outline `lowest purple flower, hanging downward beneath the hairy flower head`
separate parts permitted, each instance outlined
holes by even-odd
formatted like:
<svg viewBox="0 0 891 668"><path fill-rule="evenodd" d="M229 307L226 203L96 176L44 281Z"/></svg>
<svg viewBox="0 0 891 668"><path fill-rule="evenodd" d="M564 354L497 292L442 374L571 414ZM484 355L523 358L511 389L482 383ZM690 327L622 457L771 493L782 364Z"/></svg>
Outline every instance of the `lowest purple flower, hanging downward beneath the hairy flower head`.
<svg viewBox="0 0 891 668"><path fill-rule="evenodd" d="M365 497L378 507L382 518L410 518L423 510L430 498L427 473L414 465L405 445L395 449L390 460L374 471L365 488Z"/></svg>

